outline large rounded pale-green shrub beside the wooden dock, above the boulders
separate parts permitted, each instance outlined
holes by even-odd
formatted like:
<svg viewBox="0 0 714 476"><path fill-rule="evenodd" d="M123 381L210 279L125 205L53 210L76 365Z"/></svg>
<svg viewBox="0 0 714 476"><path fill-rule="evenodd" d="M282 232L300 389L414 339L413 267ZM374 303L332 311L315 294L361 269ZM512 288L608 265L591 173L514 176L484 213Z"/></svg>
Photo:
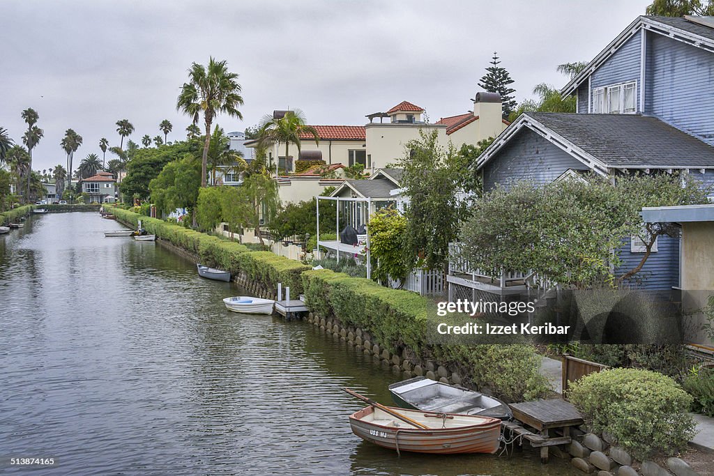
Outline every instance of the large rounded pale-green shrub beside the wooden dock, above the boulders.
<svg viewBox="0 0 714 476"><path fill-rule="evenodd" d="M570 387L570 401L593 430L643 459L671 456L694 435L687 412L692 397L672 378L649 370L616 368L591 373Z"/></svg>

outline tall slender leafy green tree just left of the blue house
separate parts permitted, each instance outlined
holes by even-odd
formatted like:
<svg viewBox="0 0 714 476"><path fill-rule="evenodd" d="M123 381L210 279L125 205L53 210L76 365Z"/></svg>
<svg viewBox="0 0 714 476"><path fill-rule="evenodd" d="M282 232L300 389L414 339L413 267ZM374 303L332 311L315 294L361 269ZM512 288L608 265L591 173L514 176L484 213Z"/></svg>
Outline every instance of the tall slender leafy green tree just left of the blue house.
<svg viewBox="0 0 714 476"><path fill-rule="evenodd" d="M404 169L403 196L409 201L404 250L410 266L419 257L433 270L448 264L448 244L456 240L460 221L468 216L468 203L458 196L463 158L453 146L440 146L436 131L420 135L407 143L407 152L398 161Z"/></svg>

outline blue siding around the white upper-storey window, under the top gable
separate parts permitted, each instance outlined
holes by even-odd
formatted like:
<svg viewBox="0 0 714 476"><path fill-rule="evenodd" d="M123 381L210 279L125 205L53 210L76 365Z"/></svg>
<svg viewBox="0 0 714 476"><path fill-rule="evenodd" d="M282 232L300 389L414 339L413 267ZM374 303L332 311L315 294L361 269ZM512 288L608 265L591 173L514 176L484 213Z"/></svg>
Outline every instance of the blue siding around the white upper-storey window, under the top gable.
<svg viewBox="0 0 714 476"><path fill-rule="evenodd" d="M635 108L640 109L640 35L638 31L618 51L610 56L603 64L590 76L590 93L595 88L610 86L610 84L627 83L637 81ZM583 83L587 87L587 83Z"/></svg>

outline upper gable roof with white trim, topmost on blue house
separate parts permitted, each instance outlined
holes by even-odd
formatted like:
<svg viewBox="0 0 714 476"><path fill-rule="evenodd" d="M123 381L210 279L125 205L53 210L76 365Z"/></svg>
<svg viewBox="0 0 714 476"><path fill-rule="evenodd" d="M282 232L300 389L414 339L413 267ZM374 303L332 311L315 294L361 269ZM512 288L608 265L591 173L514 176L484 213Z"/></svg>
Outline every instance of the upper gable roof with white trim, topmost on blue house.
<svg viewBox="0 0 714 476"><path fill-rule="evenodd" d="M711 17L702 18L709 19ZM588 63L588 66L586 66L583 71L580 71L580 74L575 75L575 77L560 90L560 94L563 96L572 94L583 81L588 79L590 74L593 74L610 56L615 54L615 51L620 49L620 46L623 46L626 41L641 29L669 36L677 41L682 41L683 43L714 53L714 29L708 26L698 24L687 18L651 15L638 16L637 19L620 32L613 41L610 41L610 44L605 46L605 48Z"/></svg>

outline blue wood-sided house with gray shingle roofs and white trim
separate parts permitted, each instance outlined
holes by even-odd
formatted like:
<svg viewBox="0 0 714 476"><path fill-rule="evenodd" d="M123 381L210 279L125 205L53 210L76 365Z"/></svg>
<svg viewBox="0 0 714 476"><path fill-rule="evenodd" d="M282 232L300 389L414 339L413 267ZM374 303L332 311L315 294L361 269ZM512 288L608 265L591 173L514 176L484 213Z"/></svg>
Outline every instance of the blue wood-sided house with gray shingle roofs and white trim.
<svg viewBox="0 0 714 476"><path fill-rule="evenodd" d="M496 183L549 183L567 176L680 171L714 185L714 17L640 16L561 91L577 113L523 113L476 164L486 191ZM680 284L679 240L660 237L637 285ZM644 247L633 237L620 250L622 274ZM525 271L525 270L524 270ZM453 266L452 287L507 295L526 273L497 282ZM450 289L451 295L456 295ZM461 290L463 294L463 289Z"/></svg>

